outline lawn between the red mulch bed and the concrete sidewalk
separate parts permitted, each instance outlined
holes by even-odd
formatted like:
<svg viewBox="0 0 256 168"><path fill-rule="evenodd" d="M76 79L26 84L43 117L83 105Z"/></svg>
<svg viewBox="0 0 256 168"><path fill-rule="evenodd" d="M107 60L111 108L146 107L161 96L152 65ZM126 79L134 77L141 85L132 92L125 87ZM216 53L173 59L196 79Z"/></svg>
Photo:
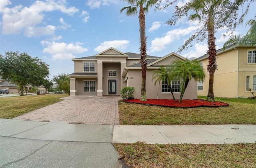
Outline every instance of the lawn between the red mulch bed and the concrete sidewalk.
<svg viewBox="0 0 256 168"><path fill-rule="evenodd" d="M228 107L190 109L154 107L119 101L120 125L256 124L256 105L228 102Z"/></svg>

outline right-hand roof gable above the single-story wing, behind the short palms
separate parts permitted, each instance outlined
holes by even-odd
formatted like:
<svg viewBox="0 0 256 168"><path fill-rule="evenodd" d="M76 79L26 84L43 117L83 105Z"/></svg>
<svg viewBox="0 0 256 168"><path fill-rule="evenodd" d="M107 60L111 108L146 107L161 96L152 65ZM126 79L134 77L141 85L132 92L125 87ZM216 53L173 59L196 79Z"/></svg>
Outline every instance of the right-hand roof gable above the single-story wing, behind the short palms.
<svg viewBox="0 0 256 168"><path fill-rule="evenodd" d="M154 61L154 62L148 64L148 66L167 65L167 64L170 64L174 60L185 60L185 58L182 57L181 55L178 55L177 53L172 52L172 53L158 59L157 61Z"/></svg>

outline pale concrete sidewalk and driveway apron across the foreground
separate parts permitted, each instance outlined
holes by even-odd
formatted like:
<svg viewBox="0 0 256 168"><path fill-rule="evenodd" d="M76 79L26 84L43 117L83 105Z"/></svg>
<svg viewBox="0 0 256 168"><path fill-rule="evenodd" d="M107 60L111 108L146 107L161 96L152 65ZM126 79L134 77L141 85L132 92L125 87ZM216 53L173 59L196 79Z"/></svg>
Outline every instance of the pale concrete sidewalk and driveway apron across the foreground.
<svg viewBox="0 0 256 168"><path fill-rule="evenodd" d="M0 119L0 167L121 168L111 143L256 143L256 125L85 125Z"/></svg>

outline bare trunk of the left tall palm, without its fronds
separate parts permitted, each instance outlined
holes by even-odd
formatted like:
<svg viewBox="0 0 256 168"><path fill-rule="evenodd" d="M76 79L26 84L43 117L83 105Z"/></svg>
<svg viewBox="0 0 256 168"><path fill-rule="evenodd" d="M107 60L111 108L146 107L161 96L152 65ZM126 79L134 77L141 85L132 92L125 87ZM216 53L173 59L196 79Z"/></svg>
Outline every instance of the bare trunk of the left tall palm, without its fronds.
<svg viewBox="0 0 256 168"><path fill-rule="evenodd" d="M145 26L145 14L144 14L143 6L140 6L139 24L140 24L140 63L142 67L140 101L147 101L147 97L146 97L147 53L146 53L146 33L145 33L146 26Z"/></svg>

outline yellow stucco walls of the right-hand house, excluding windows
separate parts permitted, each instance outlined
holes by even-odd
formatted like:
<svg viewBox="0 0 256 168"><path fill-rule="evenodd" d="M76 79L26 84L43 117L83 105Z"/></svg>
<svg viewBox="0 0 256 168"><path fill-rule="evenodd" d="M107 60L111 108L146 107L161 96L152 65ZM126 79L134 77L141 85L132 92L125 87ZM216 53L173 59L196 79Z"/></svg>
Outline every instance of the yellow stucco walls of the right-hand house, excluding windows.
<svg viewBox="0 0 256 168"><path fill-rule="evenodd" d="M214 73L214 96L236 98L248 97L250 92L246 91L246 76L250 76L250 86L252 87L253 76L256 75L256 64L248 64L248 49L238 47L217 55L218 70ZM239 62L238 62L239 60ZM207 72L208 60L203 60L206 72L204 90L198 91L198 96L207 96L209 74Z"/></svg>

